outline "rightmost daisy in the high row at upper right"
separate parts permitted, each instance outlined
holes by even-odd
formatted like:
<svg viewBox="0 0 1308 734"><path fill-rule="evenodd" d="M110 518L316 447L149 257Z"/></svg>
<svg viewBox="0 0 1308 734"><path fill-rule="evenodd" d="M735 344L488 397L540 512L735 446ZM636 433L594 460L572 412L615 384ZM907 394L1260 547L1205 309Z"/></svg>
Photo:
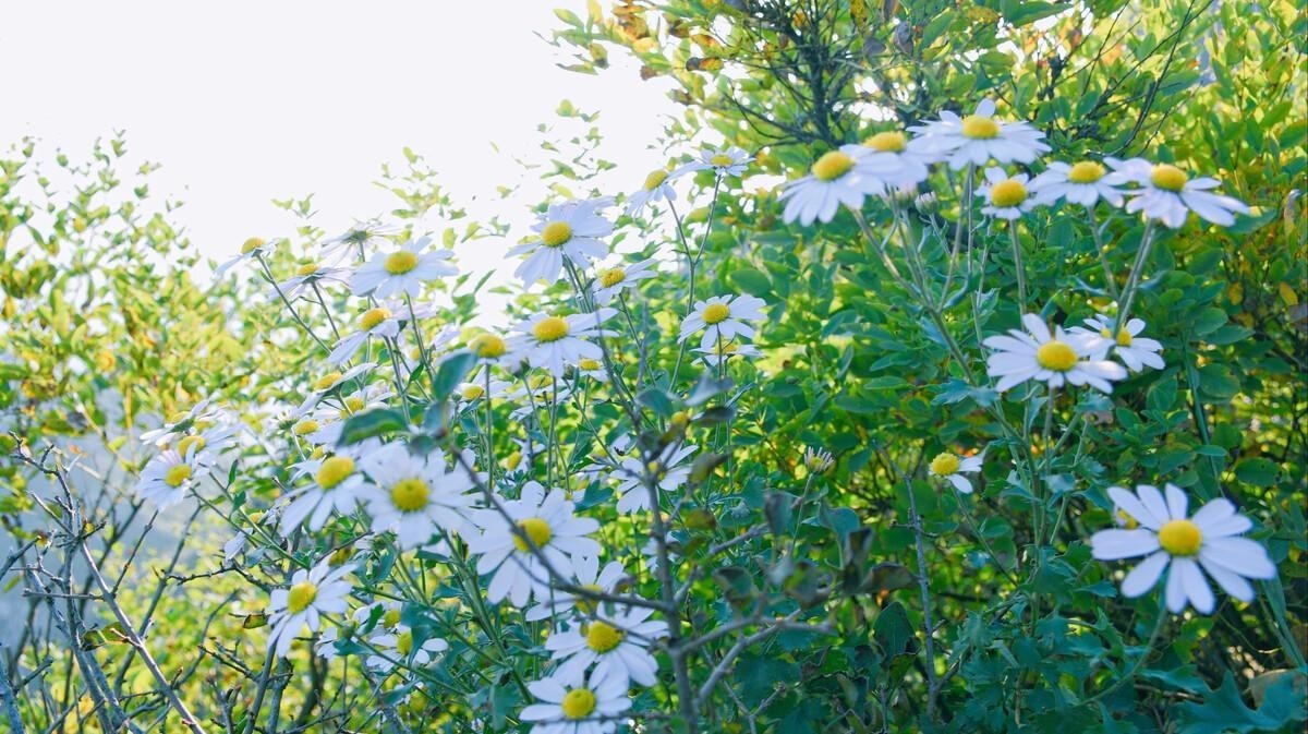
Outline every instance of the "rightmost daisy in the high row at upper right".
<svg viewBox="0 0 1308 734"><path fill-rule="evenodd" d="M1126 211L1144 212L1146 218L1159 220L1172 229L1184 225L1190 212L1220 226L1235 224L1232 212L1249 213L1249 207L1244 201L1209 191L1220 184L1215 178L1192 179L1181 167L1151 164L1144 158L1129 161L1104 158L1104 161L1124 179L1139 186L1126 192L1131 196L1126 203Z"/></svg>

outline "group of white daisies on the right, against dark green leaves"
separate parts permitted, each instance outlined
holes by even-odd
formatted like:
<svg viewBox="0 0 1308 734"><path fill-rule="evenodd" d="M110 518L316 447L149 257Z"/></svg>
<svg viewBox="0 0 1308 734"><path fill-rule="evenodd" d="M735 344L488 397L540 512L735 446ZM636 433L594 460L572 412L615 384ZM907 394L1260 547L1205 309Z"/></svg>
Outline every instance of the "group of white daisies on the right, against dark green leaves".
<svg viewBox="0 0 1308 734"><path fill-rule="evenodd" d="M955 171L967 169L965 191L978 200L981 213L1006 220L1010 226L1036 207L1059 201L1086 209L1100 201L1125 207L1127 213L1141 213L1172 229L1184 225L1190 212L1222 226L1233 224L1235 213L1249 212L1244 203L1214 192L1216 179L1190 178L1172 164L1112 157L1103 162L1054 161L1033 177L1016 167L1036 164L1048 150L1044 133L1025 122L995 118L994 102L988 99L967 116L944 111L938 120L904 132L879 132L862 144L825 153L808 175L781 192L782 218L807 226L831 221L841 205L861 211L869 196L913 199L930 166L938 164ZM973 190L974 171L981 171L981 178ZM986 338L982 344L990 349L986 368L994 389L1005 393L1035 381L1048 386L1050 399L1054 390L1063 387L1112 393L1113 382L1133 372L1165 366L1163 345L1142 336L1143 321L1124 323L1096 314L1083 323L1066 331L1061 326L1050 328L1041 317L1028 313L1022 317L1023 328ZM927 472L971 493L967 475L980 472L984 463L984 453L968 457L944 451L931 459ZM1179 614L1193 606L1209 614L1215 601L1205 573L1245 602L1253 598L1249 578L1275 574L1266 550L1240 536L1252 522L1226 498L1188 517L1185 492L1171 484L1165 497L1151 485L1141 485L1135 493L1113 487L1109 496L1122 527L1096 533L1091 544L1100 560L1146 556L1122 581L1126 597L1148 591L1167 572L1167 608Z"/></svg>

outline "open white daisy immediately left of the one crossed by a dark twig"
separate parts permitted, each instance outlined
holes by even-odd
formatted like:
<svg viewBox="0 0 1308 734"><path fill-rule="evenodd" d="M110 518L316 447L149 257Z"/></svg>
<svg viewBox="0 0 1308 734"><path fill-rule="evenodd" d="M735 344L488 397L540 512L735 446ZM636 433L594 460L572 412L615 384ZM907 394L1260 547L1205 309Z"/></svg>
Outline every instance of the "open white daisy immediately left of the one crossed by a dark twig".
<svg viewBox="0 0 1308 734"><path fill-rule="evenodd" d="M373 531L395 531L402 548L415 548L437 530L462 533L476 497L463 468L446 470L445 454L415 457L408 446L391 442L358 462L375 487L364 491Z"/></svg>

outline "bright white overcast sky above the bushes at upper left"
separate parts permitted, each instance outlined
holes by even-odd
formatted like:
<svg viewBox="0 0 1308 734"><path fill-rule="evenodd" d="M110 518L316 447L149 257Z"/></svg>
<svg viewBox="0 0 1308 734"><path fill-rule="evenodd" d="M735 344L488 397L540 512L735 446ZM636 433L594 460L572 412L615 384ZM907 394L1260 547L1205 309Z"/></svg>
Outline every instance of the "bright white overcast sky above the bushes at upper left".
<svg viewBox="0 0 1308 734"><path fill-rule="evenodd" d="M555 7L585 16L582 0L7 3L0 147L31 135L80 160L124 130L135 157L164 165L153 194L182 199L175 218L220 260L292 232L273 198L317 194L328 230L383 213L395 200L371 182L405 145L456 201L493 199L564 98L602 113L611 181L636 186L663 162L647 147L678 109L630 65L559 68L568 59L535 35L560 27ZM535 200L500 204L517 209L502 218L530 221ZM459 255L481 270L501 251Z"/></svg>

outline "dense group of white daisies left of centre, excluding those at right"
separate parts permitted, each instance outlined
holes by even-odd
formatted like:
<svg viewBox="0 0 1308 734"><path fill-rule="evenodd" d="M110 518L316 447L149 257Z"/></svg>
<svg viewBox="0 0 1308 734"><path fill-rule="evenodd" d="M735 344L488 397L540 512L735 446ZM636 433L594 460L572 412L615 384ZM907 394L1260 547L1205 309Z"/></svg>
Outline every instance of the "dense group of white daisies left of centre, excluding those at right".
<svg viewBox="0 0 1308 734"><path fill-rule="evenodd" d="M628 212L636 215L655 200L671 203L672 182L688 173L712 170L721 182L739 175L747 160L739 149L710 150L671 173L651 175L629 198ZM517 276L526 287L568 279L573 292L585 294L578 300L581 310L545 309L506 334L481 331L467 339L463 348L477 368L458 389L455 410L479 415L487 402L502 400L514 406L511 419L540 420L542 407L561 404L582 381L612 378L606 340L616 332L608 324L628 300L640 297L638 287L655 276L657 263L611 258L606 238L613 222L603 215L611 204L594 199L552 205L532 228L535 234L510 250L523 258ZM433 365L456 348L454 330L422 334L422 324L436 313L426 298L429 284L458 272L453 253L436 249L426 237L396 245L398 234L368 222L324 242L319 259L289 277L273 276L266 259L271 245L262 239L251 239L221 266L225 272L242 262L258 263L273 298L293 310L317 305L331 314L330 304L341 288L358 300L352 326L337 330L337 318L332 323L336 340L323 344L330 372L269 427L285 437L300 461L284 472L285 479L273 472L283 488L280 497L252 519L285 539L348 522L364 530L352 542L354 552L386 539L424 557L467 557L484 581L488 602L511 604L527 620L551 621L544 652L553 670L528 687L539 700L521 718L534 722L538 734L612 731L630 707L630 687L657 682L650 650L666 636L667 625L651 619L653 606L621 595L628 593L630 576L620 561L600 568L603 550L591 538L598 522L577 516L564 489L547 489L532 479L531 458L539 447L519 441L522 451L492 479L473 470L471 451L415 451L404 441L378 438L341 442L352 416L408 393L407 381L420 364ZM700 301L685 314L679 340L689 341L712 366L721 368L732 356L759 356L752 340L764 305L738 294ZM161 484L173 501L194 488L191 474L169 474L167 467L181 462L198 471L216 461L218 436L199 438L205 425L198 416L186 416L166 427L167 436L158 436L165 451L152 462L161 468L146 472L143 497L164 498ZM612 483L617 512L645 513L661 495L687 483L696 449L678 442L645 455L621 438L586 474ZM252 533L242 530L224 548L228 563L245 552ZM449 642L429 635L429 624L407 624L412 620L398 602L368 598L352 582L353 572L340 553L296 570L272 593L269 649L285 657L307 629L317 638L315 653L323 657L357 649L343 646L347 638L352 645L362 642L369 650L364 663L378 674L437 663Z"/></svg>

